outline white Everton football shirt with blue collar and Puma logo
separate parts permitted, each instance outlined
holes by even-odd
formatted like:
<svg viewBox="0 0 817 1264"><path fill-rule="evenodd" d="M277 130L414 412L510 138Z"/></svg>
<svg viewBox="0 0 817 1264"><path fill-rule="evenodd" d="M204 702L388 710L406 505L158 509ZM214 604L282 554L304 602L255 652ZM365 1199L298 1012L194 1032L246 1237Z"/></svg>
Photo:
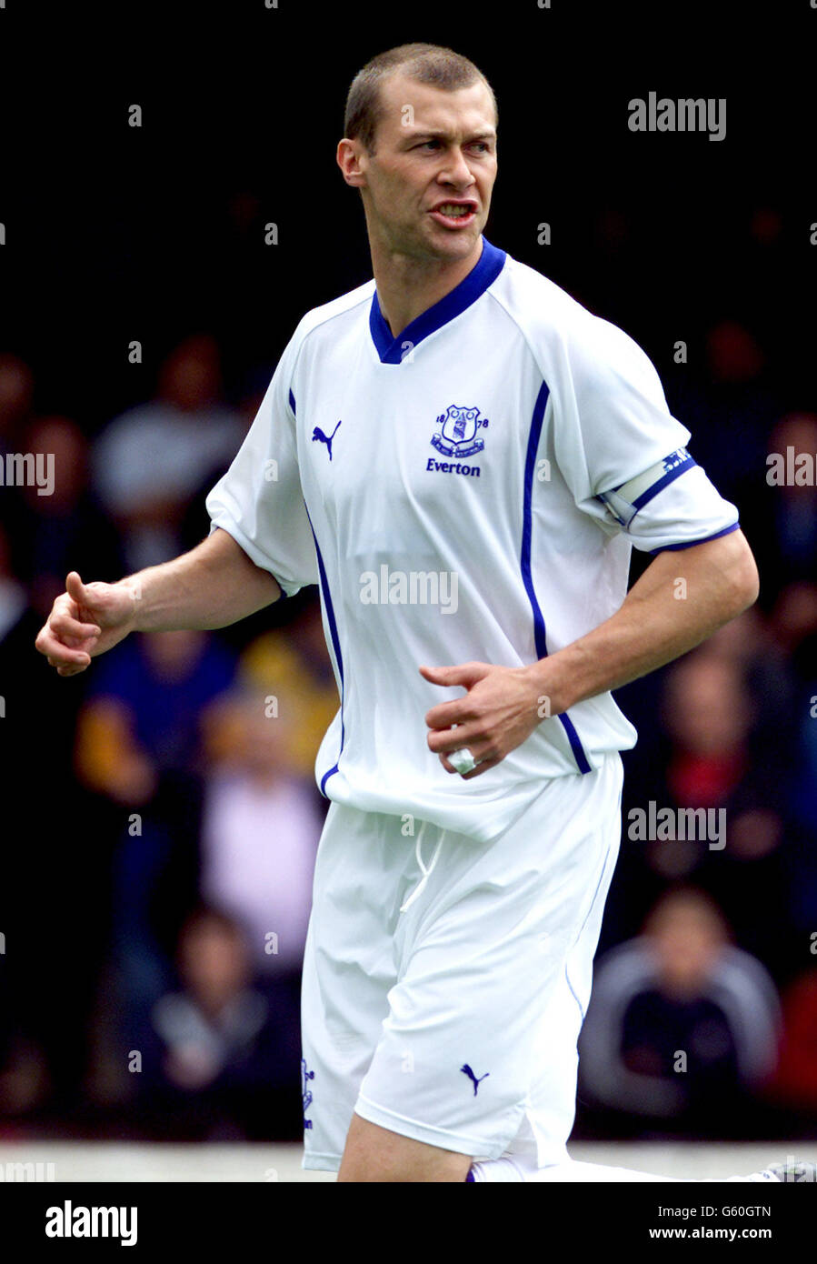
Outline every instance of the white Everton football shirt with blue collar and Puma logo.
<svg viewBox="0 0 817 1264"><path fill-rule="evenodd" d="M534 662L619 609L633 545L736 530L688 440L626 334L485 238L398 337L374 281L309 311L207 509L288 595L319 584L341 699L321 791L487 841L544 777L634 746L605 693L463 781L424 720L463 689L418 666Z"/></svg>

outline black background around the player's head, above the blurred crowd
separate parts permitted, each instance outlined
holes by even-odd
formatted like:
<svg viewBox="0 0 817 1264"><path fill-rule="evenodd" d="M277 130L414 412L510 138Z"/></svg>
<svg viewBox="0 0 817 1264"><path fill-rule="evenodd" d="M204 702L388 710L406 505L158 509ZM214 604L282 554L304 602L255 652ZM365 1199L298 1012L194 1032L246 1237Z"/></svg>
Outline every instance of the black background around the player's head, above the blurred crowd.
<svg viewBox="0 0 817 1264"><path fill-rule="evenodd" d="M235 386L274 364L304 310L367 279L335 149L355 72L412 39L463 52L494 86L490 240L621 324L659 372L686 337L695 373L702 325L740 316L802 404L814 345L806 0L386 9L9 4L4 340L32 356L43 408L98 427L149 392L162 354L194 327L218 335ZM628 102L650 90L726 97L726 139L630 133ZM140 129L128 126L134 102ZM750 235L765 207L783 219L774 249ZM134 337L141 367L122 350Z"/></svg>

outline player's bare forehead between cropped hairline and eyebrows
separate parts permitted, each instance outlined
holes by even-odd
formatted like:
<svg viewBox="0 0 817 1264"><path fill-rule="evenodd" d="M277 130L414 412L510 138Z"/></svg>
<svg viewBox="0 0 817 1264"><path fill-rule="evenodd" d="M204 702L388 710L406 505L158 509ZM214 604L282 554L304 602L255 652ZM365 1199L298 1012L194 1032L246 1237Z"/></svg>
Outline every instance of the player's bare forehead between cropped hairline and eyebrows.
<svg viewBox="0 0 817 1264"><path fill-rule="evenodd" d="M399 137L407 125L415 130L434 128L455 131L490 131L496 124L491 95L481 80L470 87L453 91L418 83L408 75L395 72L380 85L381 137ZM409 114L405 106L412 107ZM410 123L407 123L410 119Z"/></svg>

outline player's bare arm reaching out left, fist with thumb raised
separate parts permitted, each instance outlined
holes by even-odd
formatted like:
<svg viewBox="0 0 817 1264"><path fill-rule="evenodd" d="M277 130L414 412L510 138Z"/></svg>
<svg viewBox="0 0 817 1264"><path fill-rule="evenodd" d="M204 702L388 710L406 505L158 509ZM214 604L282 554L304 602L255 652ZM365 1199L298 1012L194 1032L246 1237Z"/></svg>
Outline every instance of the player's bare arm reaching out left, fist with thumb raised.
<svg viewBox="0 0 817 1264"><path fill-rule="evenodd" d="M181 557L116 584L83 584L71 571L66 588L35 641L61 676L85 671L129 632L222 628L282 595L269 571L221 528Z"/></svg>

